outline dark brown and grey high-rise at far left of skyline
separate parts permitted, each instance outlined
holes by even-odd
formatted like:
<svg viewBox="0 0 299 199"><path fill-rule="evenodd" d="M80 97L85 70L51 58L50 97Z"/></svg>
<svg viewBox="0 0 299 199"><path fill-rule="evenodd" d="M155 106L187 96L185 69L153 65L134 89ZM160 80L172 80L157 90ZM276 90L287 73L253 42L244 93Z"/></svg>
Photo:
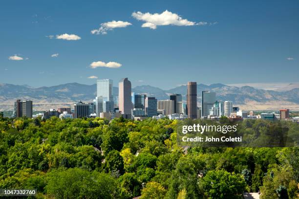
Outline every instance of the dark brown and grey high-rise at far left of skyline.
<svg viewBox="0 0 299 199"><path fill-rule="evenodd" d="M32 101L16 100L14 107L14 116L16 118L27 117L32 118Z"/></svg>

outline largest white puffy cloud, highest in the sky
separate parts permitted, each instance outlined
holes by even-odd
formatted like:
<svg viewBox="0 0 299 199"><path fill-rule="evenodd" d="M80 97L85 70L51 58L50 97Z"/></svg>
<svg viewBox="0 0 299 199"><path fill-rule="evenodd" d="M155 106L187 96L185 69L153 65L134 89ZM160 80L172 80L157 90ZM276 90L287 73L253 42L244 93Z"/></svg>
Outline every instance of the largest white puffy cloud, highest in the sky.
<svg viewBox="0 0 299 199"><path fill-rule="evenodd" d="M141 27L156 29L158 25L177 25L177 26L192 26L192 25L207 25L207 22L193 22L183 19L179 15L165 10L163 13L142 13L140 11L133 12L132 17L136 20L145 21Z"/></svg>

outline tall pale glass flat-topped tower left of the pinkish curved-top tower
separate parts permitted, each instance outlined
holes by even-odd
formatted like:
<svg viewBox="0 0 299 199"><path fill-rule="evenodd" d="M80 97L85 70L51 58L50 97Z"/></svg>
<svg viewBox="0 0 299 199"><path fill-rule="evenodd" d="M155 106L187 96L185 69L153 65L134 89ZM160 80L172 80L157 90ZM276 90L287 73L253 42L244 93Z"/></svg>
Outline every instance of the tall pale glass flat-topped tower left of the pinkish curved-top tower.
<svg viewBox="0 0 299 199"><path fill-rule="evenodd" d="M114 108L112 95L113 81L109 79L97 80L97 97L102 97L103 107L98 107L102 112L112 112ZM96 99L97 100L97 99ZM97 110L97 108L96 108Z"/></svg>

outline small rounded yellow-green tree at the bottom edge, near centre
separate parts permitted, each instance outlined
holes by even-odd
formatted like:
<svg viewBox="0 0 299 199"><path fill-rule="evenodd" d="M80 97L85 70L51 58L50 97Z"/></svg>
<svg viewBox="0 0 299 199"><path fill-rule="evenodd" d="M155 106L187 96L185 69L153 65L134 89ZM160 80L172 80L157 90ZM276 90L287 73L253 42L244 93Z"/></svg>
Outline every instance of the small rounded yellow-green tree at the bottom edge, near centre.
<svg viewBox="0 0 299 199"><path fill-rule="evenodd" d="M165 188L158 182L148 182L146 187L141 190L140 199L164 199L166 195Z"/></svg>

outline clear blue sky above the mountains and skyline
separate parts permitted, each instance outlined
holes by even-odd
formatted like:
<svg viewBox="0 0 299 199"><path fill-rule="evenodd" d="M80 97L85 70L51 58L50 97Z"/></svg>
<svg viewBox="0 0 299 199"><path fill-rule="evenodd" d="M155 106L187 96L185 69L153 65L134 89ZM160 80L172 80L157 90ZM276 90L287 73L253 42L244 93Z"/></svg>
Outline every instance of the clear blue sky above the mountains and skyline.
<svg viewBox="0 0 299 199"><path fill-rule="evenodd" d="M167 19L153 14L166 10L181 20L159 25ZM116 86L128 77L133 86L164 89L187 81L298 82L298 10L298 0L1 0L0 82L92 84L96 76ZM113 20L130 25L91 33ZM63 34L81 39L56 39ZM97 61L121 67L92 68Z"/></svg>

